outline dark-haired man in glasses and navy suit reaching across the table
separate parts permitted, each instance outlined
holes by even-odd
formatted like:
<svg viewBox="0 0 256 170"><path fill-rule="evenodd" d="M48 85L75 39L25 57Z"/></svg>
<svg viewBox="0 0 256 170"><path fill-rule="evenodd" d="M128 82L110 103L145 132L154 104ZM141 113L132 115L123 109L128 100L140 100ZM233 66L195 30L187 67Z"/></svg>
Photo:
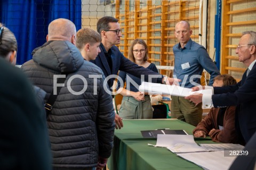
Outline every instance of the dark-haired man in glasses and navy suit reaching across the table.
<svg viewBox="0 0 256 170"><path fill-rule="evenodd" d="M109 87L113 86L115 77L119 70L125 71L138 78L141 78L141 75L145 75L145 82L150 81L151 83L163 84L172 84L174 82L175 79L173 78L159 75L158 73L144 67L140 67L125 58L125 56L119 51L118 47L115 46L120 44L120 38L122 37L122 30L120 29L120 25L116 18L102 17L99 19L97 22L97 31L102 38L102 42L100 44L101 52L98 57L95 60L91 60L91 62L102 69L106 79L108 79ZM123 127L122 119L117 114L115 117L115 123L116 128Z"/></svg>

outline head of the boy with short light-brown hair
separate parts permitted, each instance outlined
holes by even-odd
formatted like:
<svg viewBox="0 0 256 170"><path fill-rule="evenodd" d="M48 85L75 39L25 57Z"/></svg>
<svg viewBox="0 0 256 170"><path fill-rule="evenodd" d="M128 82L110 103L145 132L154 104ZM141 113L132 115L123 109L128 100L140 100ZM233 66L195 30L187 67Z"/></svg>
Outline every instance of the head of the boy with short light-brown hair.
<svg viewBox="0 0 256 170"><path fill-rule="evenodd" d="M100 53L101 36L91 28L79 29L76 33L76 47L86 61L95 60Z"/></svg>

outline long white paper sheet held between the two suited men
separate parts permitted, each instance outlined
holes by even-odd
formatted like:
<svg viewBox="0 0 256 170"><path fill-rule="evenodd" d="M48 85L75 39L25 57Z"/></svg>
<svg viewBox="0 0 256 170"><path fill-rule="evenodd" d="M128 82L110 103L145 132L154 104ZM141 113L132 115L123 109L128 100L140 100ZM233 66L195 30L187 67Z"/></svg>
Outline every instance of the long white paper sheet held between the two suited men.
<svg viewBox="0 0 256 170"><path fill-rule="evenodd" d="M175 85L165 85L159 83L148 83L142 82L139 86L140 92L145 92L148 94L165 94L165 95L174 95L174 96L188 96L191 94L202 93L202 94L212 94L211 89L207 90L199 90L196 92L192 92L191 88L185 88Z"/></svg>

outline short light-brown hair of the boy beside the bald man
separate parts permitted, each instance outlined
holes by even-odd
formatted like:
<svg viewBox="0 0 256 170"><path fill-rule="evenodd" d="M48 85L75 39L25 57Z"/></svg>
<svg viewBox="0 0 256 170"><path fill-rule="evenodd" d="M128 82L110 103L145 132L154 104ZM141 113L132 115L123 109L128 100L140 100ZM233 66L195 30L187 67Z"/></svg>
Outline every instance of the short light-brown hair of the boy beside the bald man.
<svg viewBox="0 0 256 170"><path fill-rule="evenodd" d="M82 28L76 33L76 46L79 50L82 50L87 43L93 44L99 42L101 42L100 34L91 28Z"/></svg>

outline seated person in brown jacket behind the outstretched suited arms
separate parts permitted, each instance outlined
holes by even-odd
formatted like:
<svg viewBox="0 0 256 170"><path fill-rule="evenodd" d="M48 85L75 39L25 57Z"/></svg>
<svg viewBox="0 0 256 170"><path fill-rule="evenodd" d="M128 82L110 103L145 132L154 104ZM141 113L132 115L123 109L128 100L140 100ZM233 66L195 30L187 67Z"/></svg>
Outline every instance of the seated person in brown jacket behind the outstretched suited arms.
<svg viewBox="0 0 256 170"><path fill-rule="evenodd" d="M235 85L236 80L230 75L214 78L213 87ZM214 142L239 143L235 129L235 106L211 108L209 114L193 130L195 137L209 135Z"/></svg>

